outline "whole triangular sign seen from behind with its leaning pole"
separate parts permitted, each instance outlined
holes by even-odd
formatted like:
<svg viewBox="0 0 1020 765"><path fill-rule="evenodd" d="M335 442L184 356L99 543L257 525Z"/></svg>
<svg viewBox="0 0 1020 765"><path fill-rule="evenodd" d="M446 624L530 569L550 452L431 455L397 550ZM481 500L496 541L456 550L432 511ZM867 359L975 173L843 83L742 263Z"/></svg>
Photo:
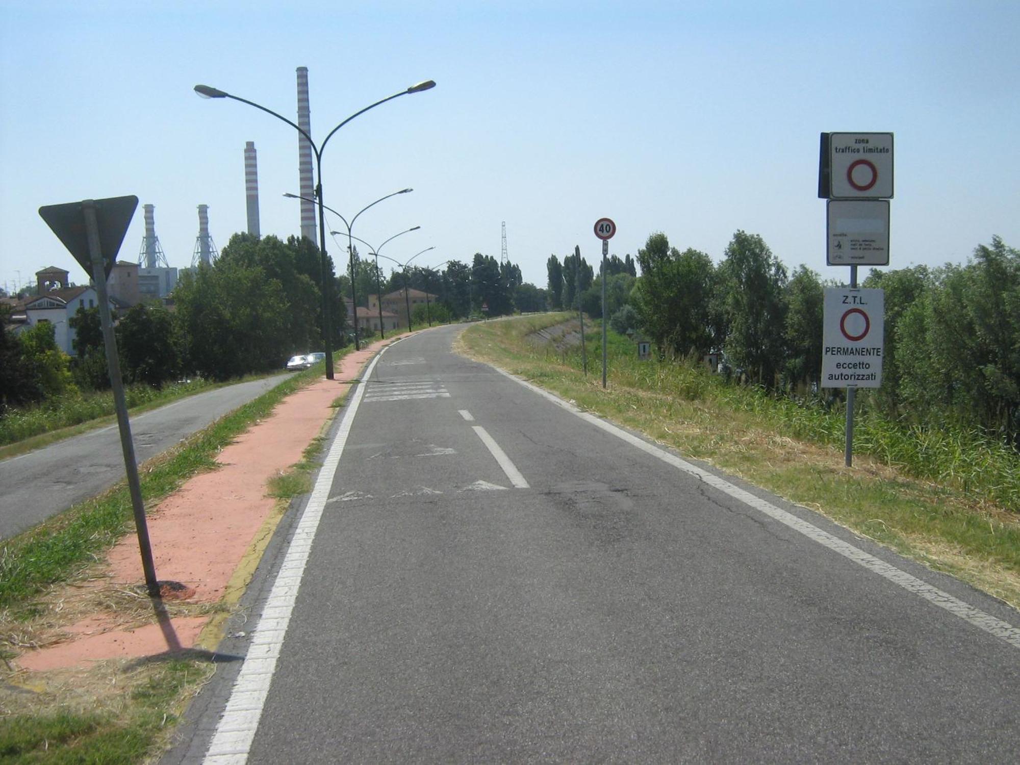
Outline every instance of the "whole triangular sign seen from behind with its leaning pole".
<svg viewBox="0 0 1020 765"><path fill-rule="evenodd" d="M113 262L116 260L120 244L137 207L138 197L87 199L83 202L40 207L39 214L92 277L96 287L99 319L106 346L106 363L113 390L117 426L120 430L120 449L123 453L128 489L131 492L132 509L135 514L138 546L142 553L142 569L149 595L158 598L159 582L156 580L156 567L152 559L149 526L145 519L145 503L142 500L142 487L138 478L135 444L131 435L131 421L128 419L128 404L120 377L120 360L117 356L117 343L113 335L113 321L106 292L106 276L113 268Z"/></svg>

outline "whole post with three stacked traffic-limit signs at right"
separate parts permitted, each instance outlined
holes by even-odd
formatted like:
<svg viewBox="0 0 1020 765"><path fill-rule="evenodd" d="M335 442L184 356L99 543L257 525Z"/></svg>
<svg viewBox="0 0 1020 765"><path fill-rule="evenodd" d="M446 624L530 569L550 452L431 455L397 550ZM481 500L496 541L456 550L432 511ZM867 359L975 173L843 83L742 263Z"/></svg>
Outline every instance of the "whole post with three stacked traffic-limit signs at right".
<svg viewBox="0 0 1020 765"><path fill-rule="evenodd" d="M847 385L846 463L851 467L857 389L881 384L882 291L858 289L857 266L889 264L892 134L821 134L818 196L828 200L825 262L850 266L850 290L825 291L822 387Z"/></svg>

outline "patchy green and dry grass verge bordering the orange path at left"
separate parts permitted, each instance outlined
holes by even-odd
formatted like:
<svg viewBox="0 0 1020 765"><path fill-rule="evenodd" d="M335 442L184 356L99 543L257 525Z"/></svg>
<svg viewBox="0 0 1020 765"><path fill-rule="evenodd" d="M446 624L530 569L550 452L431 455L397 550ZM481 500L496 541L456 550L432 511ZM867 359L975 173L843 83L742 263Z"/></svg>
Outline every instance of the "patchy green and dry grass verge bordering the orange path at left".
<svg viewBox="0 0 1020 765"><path fill-rule="evenodd" d="M342 354L341 354L342 355ZM323 365L299 372L196 434L141 472L147 507L172 493L192 475L213 469L216 454L288 395L322 374ZM340 401L336 403L339 405ZM317 466L321 441L301 463L277 476L267 493L279 499L306 492ZM151 622L152 602L138 590L97 585L92 571L102 554L124 533L133 533L126 486L114 487L20 537L0 550L0 658L45 645L59 626L105 613L125 626ZM166 602L170 616L222 611L222 604ZM138 763L156 756L188 700L212 674L202 651L122 665L97 662L91 669L45 673L30 678L0 666L0 761ZM27 682L36 684L27 685Z"/></svg>

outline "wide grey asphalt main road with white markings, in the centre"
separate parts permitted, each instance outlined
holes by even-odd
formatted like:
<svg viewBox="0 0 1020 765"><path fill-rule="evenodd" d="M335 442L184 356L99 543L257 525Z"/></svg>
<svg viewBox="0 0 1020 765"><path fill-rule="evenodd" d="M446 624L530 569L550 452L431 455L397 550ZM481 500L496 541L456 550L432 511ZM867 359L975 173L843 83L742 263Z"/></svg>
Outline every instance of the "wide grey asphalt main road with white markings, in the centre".
<svg viewBox="0 0 1020 765"><path fill-rule="evenodd" d="M454 332L352 396L165 763L1020 759L1015 611Z"/></svg>

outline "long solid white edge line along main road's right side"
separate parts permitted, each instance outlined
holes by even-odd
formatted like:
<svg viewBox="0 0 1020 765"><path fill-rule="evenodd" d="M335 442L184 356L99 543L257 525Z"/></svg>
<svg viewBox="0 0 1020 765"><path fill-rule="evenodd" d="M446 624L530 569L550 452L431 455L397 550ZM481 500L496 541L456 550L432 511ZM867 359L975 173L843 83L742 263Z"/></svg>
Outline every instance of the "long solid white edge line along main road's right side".
<svg viewBox="0 0 1020 765"><path fill-rule="evenodd" d="M707 470L703 470L700 467L692 465L690 462L681 460L679 457L676 457L675 455L672 455L669 452L666 452L653 444L649 444L645 441L642 441L636 436L632 436L631 434L628 434L626 430L623 430L622 428L619 428L616 425L606 422L605 420L600 419L599 417L596 417L593 414L589 414L588 412L581 411L573 404L569 404L566 401L557 398L553 394L549 393L548 391L542 390L538 386L533 386L530 382L526 382L522 379L519 379L510 374L509 372L504 371L503 369L498 369L496 367L493 368L496 369L496 371L500 372L500 374L509 377L514 382L524 386L524 388L533 391L540 396L544 396L557 406L566 409L567 411L575 414L576 416L580 417L583 420L586 420L588 422L591 422L596 427L599 427L608 434L612 434L618 439L622 439L628 444L638 447L643 452L646 452L647 454L650 454L653 457L662 460L668 465L672 465L673 467L682 470L686 473L690 473L691 475L696 475L709 486L718 489L720 492L724 494L728 494L733 499L738 500L744 504L749 505L750 507L753 507L754 509L762 513L765 513L766 515L768 515L771 518L774 518L780 523L789 526L795 531L799 531L808 539L817 542L819 545L823 545L827 547L829 550L839 553L839 555L849 558L858 565L867 568L869 571L873 571L879 576L885 577L892 583L902 586L904 590L913 593L914 595L917 595L918 597L923 598L924 600L930 603L933 603L939 608L946 609L950 613L959 616L961 619L970 622L974 626L979 627L980 629L983 629L989 634L993 634L996 638L1005 641L1013 648L1020 649L1020 628L1013 626L1009 622L1003 621L1002 619L999 619L992 616L991 614L985 613L980 609L974 608L973 606L964 603L958 598L954 598L949 593L939 590L936 586L928 584L926 581L922 581L913 574L909 574L906 571L897 568L896 566L886 563L885 561L876 558L875 556L869 553L864 552L859 547L855 547L850 543L844 542L838 537L834 537L833 534L830 534L827 531L823 531L813 523L809 523L806 520L802 520L793 513L788 513L785 510L781 510L775 505L766 502L763 499L755 497L750 492L746 492L743 489L738 489L729 481L720 478L718 475L714 475L713 473L710 473Z"/></svg>

